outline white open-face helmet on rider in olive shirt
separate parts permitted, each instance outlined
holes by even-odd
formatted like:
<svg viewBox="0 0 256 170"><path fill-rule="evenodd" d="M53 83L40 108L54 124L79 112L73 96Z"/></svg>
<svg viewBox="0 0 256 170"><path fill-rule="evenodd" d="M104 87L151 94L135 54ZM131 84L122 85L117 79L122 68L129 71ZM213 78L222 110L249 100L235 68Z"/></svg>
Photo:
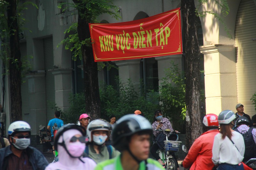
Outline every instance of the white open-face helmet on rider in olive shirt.
<svg viewBox="0 0 256 170"><path fill-rule="evenodd" d="M92 132L96 130L108 131L108 135L109 135L109 130L111 130L111 125L104 119L96 119L90 122L86 129L86 134L88 135L89 142L93 141ZM108 138L106 139L106 141L107 140Z"/></svg>

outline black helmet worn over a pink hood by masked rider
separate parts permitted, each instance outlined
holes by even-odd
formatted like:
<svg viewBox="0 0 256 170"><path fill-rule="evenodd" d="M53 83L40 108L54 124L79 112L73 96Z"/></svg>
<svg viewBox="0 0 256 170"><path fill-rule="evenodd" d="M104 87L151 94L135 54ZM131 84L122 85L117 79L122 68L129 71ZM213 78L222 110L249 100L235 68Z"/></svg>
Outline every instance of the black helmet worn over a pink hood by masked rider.
<svg viewBox="0 0 256 170"><path fill-rule="evenodd" d="M60 139L60 137L63 135L64 132L66 132L67 130L70 129L77 129L78 131L80 131L82 133L83 136L86 135L86 130L84 129L84 127L82 126L78 126L76 124L66 124L63 125L57 132L55 138L54 138L54 150L58 151L58 140ZM64 143L64 141L63 141Z"/></svg>

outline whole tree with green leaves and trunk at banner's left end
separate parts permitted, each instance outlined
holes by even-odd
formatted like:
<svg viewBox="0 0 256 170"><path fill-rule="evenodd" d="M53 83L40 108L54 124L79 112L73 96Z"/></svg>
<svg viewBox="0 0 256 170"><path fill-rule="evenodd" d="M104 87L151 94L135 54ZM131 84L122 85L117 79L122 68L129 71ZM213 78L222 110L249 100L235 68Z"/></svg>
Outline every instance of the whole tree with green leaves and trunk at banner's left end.
<svg viewBox="0 0 256 170"><path fill-rule="evenodd" d="M85 111L90 113L93 119L99 118L98 64L93 58L89 23L97 23L97 17L104 13L119 18L118 8L113 5L112 0L73 0L73 2L66 5L62 11L64 12L68 6L73 6L78 11L78 22L66 30L66 33L70 35L61 44L65 43L65 48L73 52L73 60L76 60L78 56L83 59ZM59 8L62 8L64 4L67 3L60 4Z"/></svg>

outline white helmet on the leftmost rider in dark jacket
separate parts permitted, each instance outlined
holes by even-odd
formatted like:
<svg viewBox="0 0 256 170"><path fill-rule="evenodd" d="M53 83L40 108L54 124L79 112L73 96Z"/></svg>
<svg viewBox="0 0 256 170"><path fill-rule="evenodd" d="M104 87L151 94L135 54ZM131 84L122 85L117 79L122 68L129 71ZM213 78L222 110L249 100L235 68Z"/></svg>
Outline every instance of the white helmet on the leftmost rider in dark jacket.
<svg viewBox="0 0 256 170"><path fill-rule="evenodd" d="M14 132L28 132L31 133L31 128L27 122L16 121L12 122L8 128L8 135L12 135Z"/></svg>

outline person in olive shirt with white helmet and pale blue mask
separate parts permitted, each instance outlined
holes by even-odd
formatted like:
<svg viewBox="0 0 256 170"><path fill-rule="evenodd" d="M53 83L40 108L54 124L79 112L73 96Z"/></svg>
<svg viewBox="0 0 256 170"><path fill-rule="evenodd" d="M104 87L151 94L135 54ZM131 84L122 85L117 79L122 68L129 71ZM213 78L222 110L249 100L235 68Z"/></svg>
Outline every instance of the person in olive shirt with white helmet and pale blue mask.
<svg viewBox="0 0 256 170"><path fill-rule="evenodd" d="M113 146L106 145L111 125L103 120L96 119L88 124L86 129L89 142L85 148L85 153L96 163L115 158L120 154Z"/></svg>

